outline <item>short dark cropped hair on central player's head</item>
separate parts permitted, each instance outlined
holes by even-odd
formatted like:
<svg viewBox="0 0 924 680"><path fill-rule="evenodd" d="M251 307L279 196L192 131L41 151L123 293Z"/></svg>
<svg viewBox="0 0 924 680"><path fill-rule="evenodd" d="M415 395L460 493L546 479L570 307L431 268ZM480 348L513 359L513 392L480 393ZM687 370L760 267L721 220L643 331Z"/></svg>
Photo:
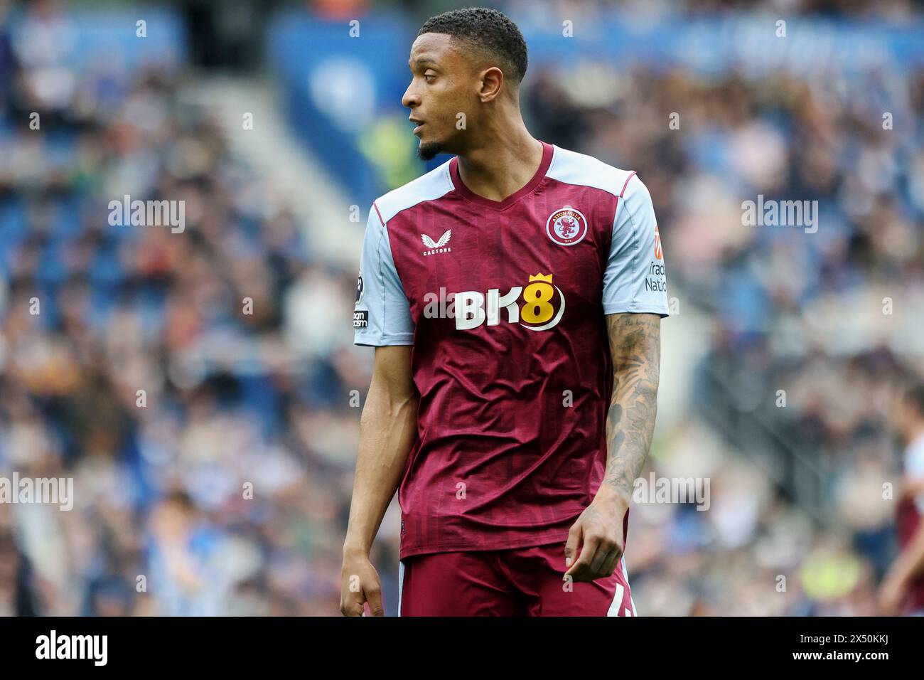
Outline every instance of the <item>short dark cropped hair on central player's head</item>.
<svg viewBox="0 0 924 680"><path fill-rule="evenodd" d="M529 62L523 33L503 12L488 7L453 9L424 21L418 35L445 33L498 60L507 78L523 80Z"/></svg>

